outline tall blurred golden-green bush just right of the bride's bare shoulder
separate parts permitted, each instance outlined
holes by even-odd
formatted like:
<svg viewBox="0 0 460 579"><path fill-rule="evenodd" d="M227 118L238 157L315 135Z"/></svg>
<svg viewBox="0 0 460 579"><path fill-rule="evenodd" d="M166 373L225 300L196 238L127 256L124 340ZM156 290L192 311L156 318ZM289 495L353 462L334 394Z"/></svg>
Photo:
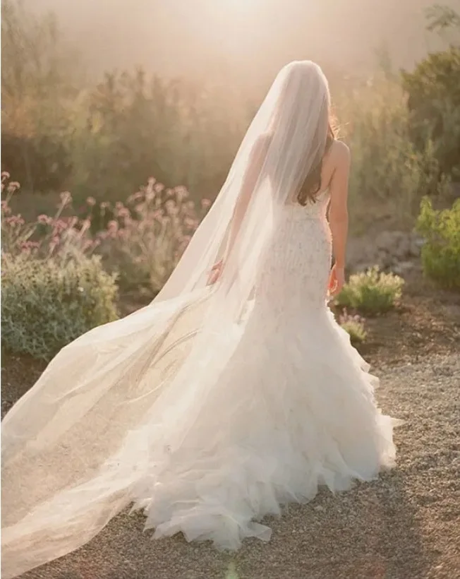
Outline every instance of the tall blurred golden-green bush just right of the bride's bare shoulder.
<svg viewBox="0 0 460 579"><path fill-rule="evenodd" d="M377 218L410 225L420 198L438 193L438 164L428 140L423 150L411 143L409 116L401 87L376 76L337 95L335 105L353 162L350 174L351 224L366 229ZM370 210L372 207L372 210Z"/></svg>

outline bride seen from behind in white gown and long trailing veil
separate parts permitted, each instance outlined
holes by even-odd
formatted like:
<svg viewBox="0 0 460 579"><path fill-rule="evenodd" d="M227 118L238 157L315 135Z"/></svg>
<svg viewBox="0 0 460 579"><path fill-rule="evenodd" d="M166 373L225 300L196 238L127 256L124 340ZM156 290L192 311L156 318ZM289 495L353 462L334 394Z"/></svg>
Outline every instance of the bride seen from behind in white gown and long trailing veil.
<svg viewBox="0 0 460 579"><path fill-rule="evenodd" d="M327 308L350 164L328 119L319 66L285 66L162 292L63 348L8 412L2 577L130 504L155 537L268 541L283 503L394 465L398 421Z"/></svg>

